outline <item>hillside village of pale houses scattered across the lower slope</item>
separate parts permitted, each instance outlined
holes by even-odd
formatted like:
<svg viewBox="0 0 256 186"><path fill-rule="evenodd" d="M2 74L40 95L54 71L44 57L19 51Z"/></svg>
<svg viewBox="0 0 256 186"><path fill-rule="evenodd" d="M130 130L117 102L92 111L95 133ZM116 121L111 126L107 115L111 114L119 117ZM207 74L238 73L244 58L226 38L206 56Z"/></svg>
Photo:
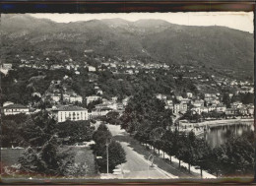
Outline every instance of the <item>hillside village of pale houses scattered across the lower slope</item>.
<svg viewBox="0 0 256 186"><path fill-rule="evenodd" d="M49 57L38 59L34 56L30 58L21 58L16 55L16 60L19 63L3 63L1 72L4 76L8 76L8 72L13 70L33 69L38 73L40 71L65 70L70 72L73 77L83 76L83 72L88 72L88 82L93 89L93 93L79 94L72 88L72 76L65 74L61 79L51 80L50 85L44 93L33 92L32 97L35 97L36 102L47 102L47 110L55 113L59 122L66 119L71 120L88 120L98 119L105 116L108 112L116 111L120 115L128 104L129 97L118 97L119 94L113 96L104 96L104 92L100 88L98 82L98 72L107 72L111 76L130 76L137 77L146 75L153 80L158 79L157 73L163 73L163 76L171 74L174 81L189 81L195 85L193 92L184 88L177 92L173 89L169 93L158 93L156 96L165 103L165 108L170 109L173 115L183 115L187 112L192 112L193 115L208 114L208 119L217 119L217 117L252 117L254 112L253 102L242 103L238 97L241 95L253 94L253 82L229 78L222 75L224 71L207 70L204 66L195 67L192 65L166 65L160 62L145 63L138 59L123 60L118 57L105 58L103 56L94 55L93 50L84 51L85 61L73 61L72 58L65 59L61 63L52 62ZM34 59L35 58L35 59ZM45 76L38 75L33 79L45 79ZM122 81L122 79L118 79ZM232 99L234 98L234 99ZM249 100L250 101L250 100ZM21 105L22 102L12 102L6 100L3 102L3 114L30 114L40 110L38 104L29 102L28 105ZM65 107L65 109L63 108ZM78 117L70 117L69 114L61 116L63 109L67 113L78 114ZM84 113L85 116L82 116ZM61 117L61 119L59 118ZM64 117L64 118L63 118ZM205 118L206 119L206 118Z"/></svg>

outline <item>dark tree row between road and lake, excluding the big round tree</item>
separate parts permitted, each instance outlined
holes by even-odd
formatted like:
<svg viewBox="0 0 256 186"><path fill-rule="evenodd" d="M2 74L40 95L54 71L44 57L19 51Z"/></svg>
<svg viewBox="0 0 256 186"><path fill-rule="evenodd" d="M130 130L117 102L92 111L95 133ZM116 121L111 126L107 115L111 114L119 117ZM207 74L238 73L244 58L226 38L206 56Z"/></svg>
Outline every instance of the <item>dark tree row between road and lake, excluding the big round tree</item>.
<svg viewBox="0 0 256 186"><path fill-rule="evenodd" d="M190 166L200 166L219 176L252 175L254 172L254 142L253 132L241 137L231 137L221 147L212 149L204 139L196 138L193 132L189 134L155 129L150 135L137 132L134 136L143 145L152 146L155 149L180 160Z"/></svg>

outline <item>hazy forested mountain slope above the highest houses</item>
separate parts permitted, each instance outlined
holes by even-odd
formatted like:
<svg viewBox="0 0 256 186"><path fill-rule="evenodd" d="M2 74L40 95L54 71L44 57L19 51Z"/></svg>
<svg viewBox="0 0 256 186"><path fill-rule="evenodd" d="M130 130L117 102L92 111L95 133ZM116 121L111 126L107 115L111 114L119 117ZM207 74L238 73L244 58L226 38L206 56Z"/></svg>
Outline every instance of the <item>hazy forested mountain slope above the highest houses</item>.
<svg viewBox="0 0 256 186"><path fill-rule="evenodd" d="M101 55L147 57L167 64L202 64L234 70L253 69L253 34L224 27L188 27L161 20L128 22L121 19L69 24L3 15L1 54L46 55L63 51L81 55L94 49Z"/></svg>

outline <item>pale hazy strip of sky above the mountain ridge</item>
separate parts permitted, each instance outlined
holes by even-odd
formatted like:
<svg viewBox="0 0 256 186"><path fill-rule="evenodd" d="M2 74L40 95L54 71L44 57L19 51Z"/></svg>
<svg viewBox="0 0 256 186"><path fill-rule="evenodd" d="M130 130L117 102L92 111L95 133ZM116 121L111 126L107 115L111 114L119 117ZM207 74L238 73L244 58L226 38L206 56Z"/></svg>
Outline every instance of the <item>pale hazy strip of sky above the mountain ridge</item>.
<svg viewBox="0 0 256 186"><path fill-rule="evenodd" d="M121 18L128 21L160 19L186 26L224 26L240 31L253 32L253 12L197 12L197 13L119 13L119 14L31 14L59 23Z"/></svg>

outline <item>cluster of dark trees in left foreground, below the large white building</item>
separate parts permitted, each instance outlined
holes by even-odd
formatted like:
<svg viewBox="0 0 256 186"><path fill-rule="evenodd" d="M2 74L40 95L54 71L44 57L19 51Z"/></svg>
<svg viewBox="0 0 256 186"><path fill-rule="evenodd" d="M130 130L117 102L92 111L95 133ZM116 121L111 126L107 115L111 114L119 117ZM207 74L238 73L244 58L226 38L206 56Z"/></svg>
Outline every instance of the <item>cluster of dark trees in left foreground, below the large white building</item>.
<svg viewBox="0 0 256 186"><path fill-rule="evenodd" d="M18 114L2 117L1 147L26 148L19 158L20 171L48 176L74 176L74 154L60 146L90 141L94 127L87 121L56 123L47 111L32 115Z"/></svg>

